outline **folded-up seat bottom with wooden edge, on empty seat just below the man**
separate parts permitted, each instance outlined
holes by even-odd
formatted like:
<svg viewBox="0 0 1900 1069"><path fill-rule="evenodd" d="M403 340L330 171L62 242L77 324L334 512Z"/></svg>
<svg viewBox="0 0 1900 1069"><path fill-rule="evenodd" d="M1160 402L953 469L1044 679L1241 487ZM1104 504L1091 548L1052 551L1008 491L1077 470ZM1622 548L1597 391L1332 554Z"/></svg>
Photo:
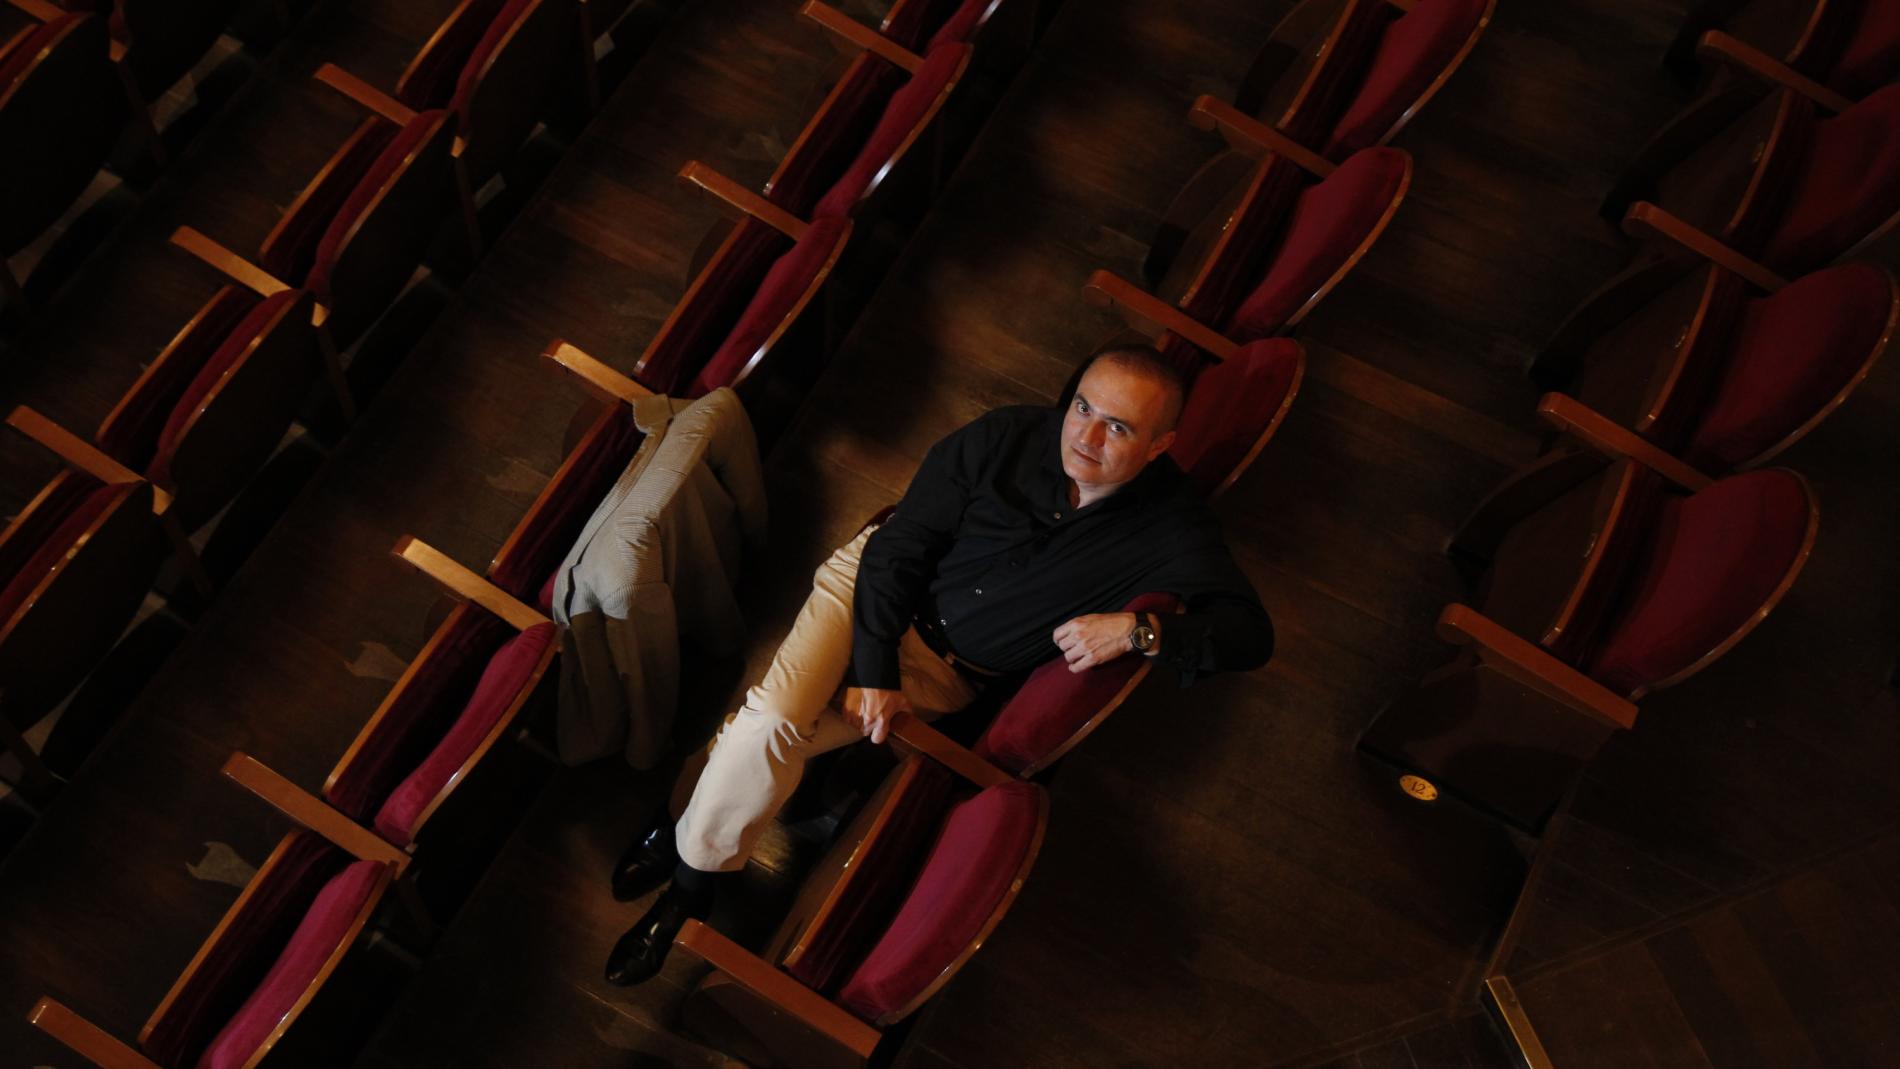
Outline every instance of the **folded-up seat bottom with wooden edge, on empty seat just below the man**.
<svg viewBox="0 0 1900 1069"><path fill-rule="evenodd" d="M897 915L954 780L923 756L891 771L800 887L771 961L813 991L834 991Z"/></svg>

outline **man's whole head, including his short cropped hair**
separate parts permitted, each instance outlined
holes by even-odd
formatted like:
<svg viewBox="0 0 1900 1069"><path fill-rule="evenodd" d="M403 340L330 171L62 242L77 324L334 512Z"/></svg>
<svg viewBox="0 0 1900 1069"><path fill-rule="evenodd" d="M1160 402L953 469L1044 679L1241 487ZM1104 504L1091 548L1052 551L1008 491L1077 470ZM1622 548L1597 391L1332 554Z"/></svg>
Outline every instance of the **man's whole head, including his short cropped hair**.
<svg viewBox="0 0 1900 1069"><path fill-rule="evenodd" d="M1174 444L1188 387L1148 346L1112 346L1091 357L1062 418L1062 471L1085 497L1134 478Z"/></svg>

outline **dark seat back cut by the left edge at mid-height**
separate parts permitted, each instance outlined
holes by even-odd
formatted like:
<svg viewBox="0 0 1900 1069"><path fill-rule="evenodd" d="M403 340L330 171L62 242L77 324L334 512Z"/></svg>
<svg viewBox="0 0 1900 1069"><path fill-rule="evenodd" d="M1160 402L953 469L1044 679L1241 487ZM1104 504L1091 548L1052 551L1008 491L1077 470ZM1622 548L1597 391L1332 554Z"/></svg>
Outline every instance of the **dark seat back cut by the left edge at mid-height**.
<svg viewBox="0 0 1900 1069"><path fill-rule="evenodd" d="M0 532L0 678L27 727L99 663L163 558L152 484L63 471Z"/></svg>

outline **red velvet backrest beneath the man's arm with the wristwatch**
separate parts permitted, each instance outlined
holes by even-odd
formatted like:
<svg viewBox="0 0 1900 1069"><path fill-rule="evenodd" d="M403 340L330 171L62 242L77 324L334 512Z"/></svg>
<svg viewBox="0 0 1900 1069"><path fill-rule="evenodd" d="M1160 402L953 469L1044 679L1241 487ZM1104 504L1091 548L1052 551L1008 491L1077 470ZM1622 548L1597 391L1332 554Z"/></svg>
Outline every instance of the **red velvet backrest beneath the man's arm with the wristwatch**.
<svg viewBox="0 0 1900 1069"><path fill-rule="evenodd" d="M1123 611L1167 617L1178 606L1180 598L1174 594L1142 594ZM1167 619L1161 628L1167 630ZM1087 672L1070 672L1060 657L1045 663L998 710L982 739L977 739L977 754L1007 773L1022 775L1074 739L1146 663L1125 655Z"/></svg>

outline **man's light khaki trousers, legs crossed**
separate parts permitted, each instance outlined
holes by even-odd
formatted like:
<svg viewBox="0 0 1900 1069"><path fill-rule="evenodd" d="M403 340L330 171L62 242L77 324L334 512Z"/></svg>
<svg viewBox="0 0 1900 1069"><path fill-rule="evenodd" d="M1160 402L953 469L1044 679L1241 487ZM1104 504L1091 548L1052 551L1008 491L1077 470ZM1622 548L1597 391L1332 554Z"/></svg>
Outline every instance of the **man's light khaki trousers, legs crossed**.
<svg viewBox="0 0 1900 1069"><path fill-rule="evenodd" d="M766 678L699 760L688 761L678 792L692 799L674 828L680 860L701 872L745 868L768 822L798 788L806 761L864 735L838 712L851 666L851 591L870 532L830 554L811 579L811 596L779 644ZM904 697L933 720L977 699L956 668L931 653L912 628L897 647ZM697 778L695 778L697 773Z"/></svg>

